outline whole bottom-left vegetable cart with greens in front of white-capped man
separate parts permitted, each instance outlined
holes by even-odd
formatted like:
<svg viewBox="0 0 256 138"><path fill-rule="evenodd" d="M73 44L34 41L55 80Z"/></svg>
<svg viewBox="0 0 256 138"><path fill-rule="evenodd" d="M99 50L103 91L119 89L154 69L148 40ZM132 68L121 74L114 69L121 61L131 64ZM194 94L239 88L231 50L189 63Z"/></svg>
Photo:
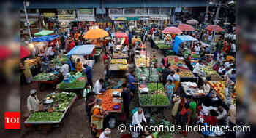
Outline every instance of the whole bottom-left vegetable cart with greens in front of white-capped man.
<svg viewBox="0 0 256 138"><path fill-rule="evenodd" d="M24 123L40 131L51 131L54 127L61 129L76 98L75 94L66 92L48 94L43 100L42 110L32 113Z"/></svg>

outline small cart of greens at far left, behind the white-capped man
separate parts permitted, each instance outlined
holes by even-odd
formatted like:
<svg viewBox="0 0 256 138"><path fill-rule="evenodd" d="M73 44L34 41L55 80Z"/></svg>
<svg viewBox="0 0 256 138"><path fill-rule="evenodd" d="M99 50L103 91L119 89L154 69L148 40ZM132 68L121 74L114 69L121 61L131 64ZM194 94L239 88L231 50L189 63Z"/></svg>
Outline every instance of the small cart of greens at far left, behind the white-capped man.
<svg viewBox="0 0 256 138"><path fill-rule="evenodd" d="M42 90L42 84L52 84L55 86L59 81L61 81L62 75L60 73L54 75L53 73L39 73L31 81L37 83L37 86Z"/></svg>

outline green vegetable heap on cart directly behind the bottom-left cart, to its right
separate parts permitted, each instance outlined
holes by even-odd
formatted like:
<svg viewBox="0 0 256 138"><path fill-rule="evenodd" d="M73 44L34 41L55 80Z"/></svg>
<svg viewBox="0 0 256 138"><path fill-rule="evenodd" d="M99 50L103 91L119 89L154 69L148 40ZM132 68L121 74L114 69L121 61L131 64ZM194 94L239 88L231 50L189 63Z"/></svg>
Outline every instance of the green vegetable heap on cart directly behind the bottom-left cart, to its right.
<svg viewBox="0 0 256 138"><path fill-rule="evenodd" d="M62 81L59 84L59 89L82 89L84 86L85 86L85 81L75 80L70 83L65 83L64 81Z"/></svg>

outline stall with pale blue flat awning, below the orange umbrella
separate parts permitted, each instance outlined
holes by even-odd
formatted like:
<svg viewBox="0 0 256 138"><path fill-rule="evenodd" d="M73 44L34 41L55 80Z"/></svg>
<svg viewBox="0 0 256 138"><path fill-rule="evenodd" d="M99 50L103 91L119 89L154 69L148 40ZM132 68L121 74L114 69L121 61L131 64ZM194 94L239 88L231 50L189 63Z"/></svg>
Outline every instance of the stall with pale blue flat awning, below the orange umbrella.
<svg viewBox="0 0 256 138"><path fill-rule="evenodd" d="M82 62L82 64L87 64L91 67L93 67L94 65L94 61L95 60L89 60L89 59L85 59L85 56L91 56L94 54L95 50L94 50L95 45L80 45L80 46L75 46L73 49L70 50L69 53L67 53L67 56L69 57L69 64L71 67L71 70L74 70L74 67L72 65L72 63L75 63L76 60L78 58L80 58L80 62Z"/></svg>

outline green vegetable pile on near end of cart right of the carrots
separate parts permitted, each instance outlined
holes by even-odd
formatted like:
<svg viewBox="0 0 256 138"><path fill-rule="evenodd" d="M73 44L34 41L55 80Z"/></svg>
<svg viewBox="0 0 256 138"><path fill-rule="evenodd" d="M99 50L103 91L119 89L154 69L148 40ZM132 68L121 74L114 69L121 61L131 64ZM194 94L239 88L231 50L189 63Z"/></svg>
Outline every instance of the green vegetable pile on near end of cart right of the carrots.
<svg viewBox="0 0 256 138"><path fill-rule="evenodd" d="M141 105L170 105L168 98L164 94L141 94Z"/></svg>

